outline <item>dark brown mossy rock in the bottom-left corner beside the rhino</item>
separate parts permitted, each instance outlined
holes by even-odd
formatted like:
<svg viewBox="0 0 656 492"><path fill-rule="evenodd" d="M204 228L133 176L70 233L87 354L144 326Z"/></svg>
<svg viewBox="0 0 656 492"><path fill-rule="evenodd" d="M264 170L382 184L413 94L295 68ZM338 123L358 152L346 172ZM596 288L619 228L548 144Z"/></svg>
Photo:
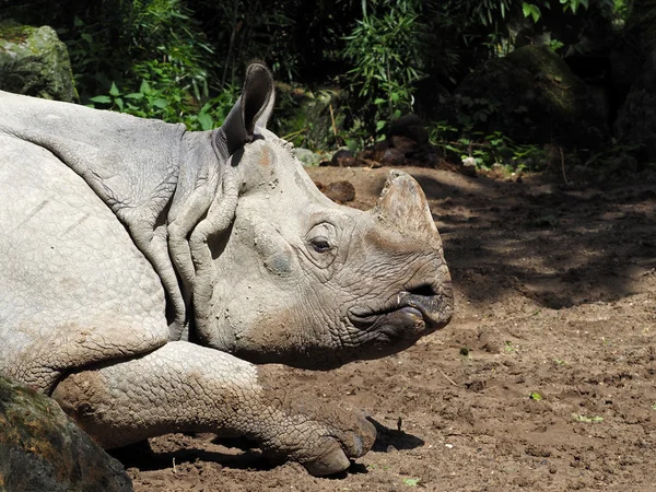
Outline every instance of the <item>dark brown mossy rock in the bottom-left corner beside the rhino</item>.
<svg viewBox="0 0 656 492"><path fill-rule="evenodd" d="M57 402L0 376L0 490L132 490L107 455Z"/></svg>

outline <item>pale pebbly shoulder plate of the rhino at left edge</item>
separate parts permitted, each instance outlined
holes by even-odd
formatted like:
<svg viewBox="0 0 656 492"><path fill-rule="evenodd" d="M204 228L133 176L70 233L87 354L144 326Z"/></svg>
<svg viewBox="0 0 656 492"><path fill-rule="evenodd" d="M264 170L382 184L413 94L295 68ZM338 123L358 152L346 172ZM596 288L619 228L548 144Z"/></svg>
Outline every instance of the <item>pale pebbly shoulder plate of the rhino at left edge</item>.
<svg viewBox="0 0 656 492"><path fill-rule="evenodd" d="M166 342L164 291L125 226L57 156L0 133L0 372L43 390Z"/></svg>

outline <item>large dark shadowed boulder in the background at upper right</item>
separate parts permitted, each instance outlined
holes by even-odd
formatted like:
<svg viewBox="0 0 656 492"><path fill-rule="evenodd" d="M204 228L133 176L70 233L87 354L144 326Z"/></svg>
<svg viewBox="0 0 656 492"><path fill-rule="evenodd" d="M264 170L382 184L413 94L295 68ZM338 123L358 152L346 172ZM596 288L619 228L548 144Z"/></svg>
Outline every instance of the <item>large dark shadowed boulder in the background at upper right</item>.
<svg viewBox="0 0 656 492"><path fill-rule="evenodd" d="M525 46L475 69L440 116L518 143L595 149L610 134L602 97L547 46Z"/></svg>

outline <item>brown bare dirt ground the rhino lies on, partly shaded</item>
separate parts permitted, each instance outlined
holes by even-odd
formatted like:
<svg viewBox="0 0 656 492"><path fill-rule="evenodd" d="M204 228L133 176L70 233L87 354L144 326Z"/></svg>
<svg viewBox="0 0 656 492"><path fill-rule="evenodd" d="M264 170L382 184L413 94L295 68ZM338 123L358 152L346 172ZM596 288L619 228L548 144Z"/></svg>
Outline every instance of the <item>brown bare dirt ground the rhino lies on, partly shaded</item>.
<svg viewBox="0 0 656 492"><path fill-rule="evenodd" d="M136 490L656 491L655 180L407 171L442 233L454 320L387 359L278 368L290 390L371 415L373 450L318 479L244 443L175 434L120 457ZM351 181L359 208L386 173L311 169Z"/></svg>

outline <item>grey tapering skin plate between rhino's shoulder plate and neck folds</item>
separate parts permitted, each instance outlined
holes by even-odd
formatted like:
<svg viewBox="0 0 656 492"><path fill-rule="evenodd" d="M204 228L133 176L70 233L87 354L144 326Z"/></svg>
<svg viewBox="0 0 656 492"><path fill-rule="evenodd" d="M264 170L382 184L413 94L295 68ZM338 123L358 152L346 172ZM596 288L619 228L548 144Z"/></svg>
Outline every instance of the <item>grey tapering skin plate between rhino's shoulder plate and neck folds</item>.
<svg viewBox="0 0 656 492"><path fill-rule="evenodd" d="M185 127L0 92L0 132L51 152L112 209L162 279L172 337L179 336L185 303L168 256L166 212Z"/></svg>

